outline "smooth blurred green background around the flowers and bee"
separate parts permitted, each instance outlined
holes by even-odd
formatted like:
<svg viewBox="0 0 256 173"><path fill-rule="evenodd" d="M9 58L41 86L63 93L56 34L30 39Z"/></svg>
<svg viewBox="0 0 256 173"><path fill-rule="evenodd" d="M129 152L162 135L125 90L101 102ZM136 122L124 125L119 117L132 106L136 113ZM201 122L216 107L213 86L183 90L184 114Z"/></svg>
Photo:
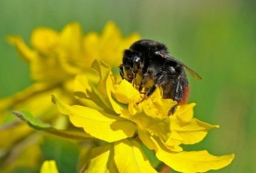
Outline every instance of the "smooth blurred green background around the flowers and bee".
<svg viewBox="0 0 256 173"><path fill-rule="evenodd" d="M256 172L256 1L0 1L0 97L32 84L28 64L20 60L5 36L27 42L32 30L60 30L78 21L84 32L101 32L113 20L124 35L164 42L170 53L196 70L190 102L202 121L219 124L199 144L215 155L235 153L227 168L212 172ZM210 171L211 172L211 171Z"/></svg>

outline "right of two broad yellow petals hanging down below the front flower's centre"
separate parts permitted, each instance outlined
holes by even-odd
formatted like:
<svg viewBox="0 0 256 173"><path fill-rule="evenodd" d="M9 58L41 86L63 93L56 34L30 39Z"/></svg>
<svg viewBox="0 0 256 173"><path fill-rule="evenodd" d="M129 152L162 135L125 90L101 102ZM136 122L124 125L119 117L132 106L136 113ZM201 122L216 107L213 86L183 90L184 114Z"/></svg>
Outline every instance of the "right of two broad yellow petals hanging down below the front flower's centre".
<svg viewBox="0 0 256 173"><path fill-rule="evenodd" d="M144 155L135 140L121 140L115 143L114 159L119 172L157 172ZM123 160L125 158L125 161Z"/></svg>

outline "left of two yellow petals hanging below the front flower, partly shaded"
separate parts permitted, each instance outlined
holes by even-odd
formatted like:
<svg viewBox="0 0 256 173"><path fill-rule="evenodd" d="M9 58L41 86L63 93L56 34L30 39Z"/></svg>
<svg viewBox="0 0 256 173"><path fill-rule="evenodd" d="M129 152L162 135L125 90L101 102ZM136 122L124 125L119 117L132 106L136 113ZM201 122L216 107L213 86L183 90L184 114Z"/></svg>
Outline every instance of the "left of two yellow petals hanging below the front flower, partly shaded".
<svg viewBox="0 0 256 173"><path fill-rule="evenodd" d="M86 172L118 172L117 166L115 166L114 162L114 150L112 144L92 149L89 167L87 168Z"/></svg>

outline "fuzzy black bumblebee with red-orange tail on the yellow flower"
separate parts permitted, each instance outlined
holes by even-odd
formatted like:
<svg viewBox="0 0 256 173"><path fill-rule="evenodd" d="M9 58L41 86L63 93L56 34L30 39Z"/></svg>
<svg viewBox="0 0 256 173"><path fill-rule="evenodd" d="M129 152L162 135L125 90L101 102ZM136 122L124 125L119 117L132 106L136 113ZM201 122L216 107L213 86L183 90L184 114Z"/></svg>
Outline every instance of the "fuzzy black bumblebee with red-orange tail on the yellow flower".
<svg viewBox="0 0 256 173"><path fill-rule="evenodd" d="M188 100L190 89L184 69L195 79L202 79L190 67L169 55L164 44L147 39L136 41L128 50L124 50L123 64L119 69L123 79L132 83L139 92L144 91L144 99L150 97L159 86L163 98L177 101L178 104L170 108L169 115L175 113L178 105ZM147 86L149 81L152 81L151 85Z"/></svg>

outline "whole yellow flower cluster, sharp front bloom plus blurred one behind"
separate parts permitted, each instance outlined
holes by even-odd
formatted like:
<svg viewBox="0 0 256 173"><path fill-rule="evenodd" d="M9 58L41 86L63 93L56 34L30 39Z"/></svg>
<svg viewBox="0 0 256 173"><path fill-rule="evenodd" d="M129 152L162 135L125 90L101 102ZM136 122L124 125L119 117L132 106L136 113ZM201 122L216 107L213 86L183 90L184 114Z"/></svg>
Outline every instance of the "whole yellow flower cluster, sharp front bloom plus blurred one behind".
<svg viewBox="0 0 256 173"><path fill-rule="evenodd" d="M112 22L100 35L83 35L80 24L75 22L60 32L40 27L32 33L32 48L20 36L9 36L8 41L29 63L35 84L0 100L0 141L4 141L0 150L11 153L9 147L31 133L28 126L10 120L10 109L22 109L46 121L56 118L59 112L68 115L72 125L83 128L83 132L59 131L48 124L40 127L41 123L27 116L26 121L38 129L105 141L90 152L86 172L156 172L142 145L176 171L206 172L227 166L234 155L183 151L181 144L199 143L209 129L218 128L193 118L194 103L178 106L174 115L167 116L176 102L163 99L160 88L142 101L144 95L132 84L118 81L113 75L111 69L121 64L122 51L138 39L136 33L124 38ZM48 101L51 94L59 112ZM39 150L37 141L33 146ZM39 154L33 152L29 157L36 160ZM57 172L55 162L45 162L41 172Z"/></svg>

